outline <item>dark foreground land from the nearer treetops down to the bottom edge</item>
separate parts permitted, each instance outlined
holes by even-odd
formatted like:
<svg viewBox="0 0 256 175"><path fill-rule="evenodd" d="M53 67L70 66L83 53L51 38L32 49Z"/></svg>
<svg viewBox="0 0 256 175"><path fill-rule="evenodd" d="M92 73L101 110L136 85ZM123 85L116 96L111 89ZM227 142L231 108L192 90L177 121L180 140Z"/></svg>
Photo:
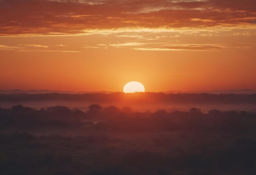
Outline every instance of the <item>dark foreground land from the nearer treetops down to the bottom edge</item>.
<svg viewBox="0 0 256 175"><path fill-rule="evenodd" d="M254 113L138 113L92 105L90 112L16 106L0 114L1 175L256 172Z"/></svg>

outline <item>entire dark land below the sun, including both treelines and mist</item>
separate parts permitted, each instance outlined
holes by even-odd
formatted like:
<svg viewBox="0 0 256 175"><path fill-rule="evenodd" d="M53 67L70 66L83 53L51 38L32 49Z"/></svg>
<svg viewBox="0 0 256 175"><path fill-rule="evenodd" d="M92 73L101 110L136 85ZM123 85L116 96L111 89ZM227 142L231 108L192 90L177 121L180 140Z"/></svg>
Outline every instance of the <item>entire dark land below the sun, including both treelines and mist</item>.
<svg viewBox="0 0 256 175"><path fill-rule="evenodd" d="M255 106L256 94L0 94L0 174L251 175Z"/></svg>

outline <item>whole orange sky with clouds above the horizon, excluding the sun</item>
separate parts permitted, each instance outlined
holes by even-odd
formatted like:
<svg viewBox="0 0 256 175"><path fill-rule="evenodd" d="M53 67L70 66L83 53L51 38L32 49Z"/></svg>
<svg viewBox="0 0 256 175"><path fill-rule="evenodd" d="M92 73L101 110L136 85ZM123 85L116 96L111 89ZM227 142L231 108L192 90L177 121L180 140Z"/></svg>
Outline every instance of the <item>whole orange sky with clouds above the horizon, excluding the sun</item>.
<svg viewBox="0 0 256 175"><path fill-rule="evenodd" d="M256 89L255 0L0 0L0 89Z"/></svg>

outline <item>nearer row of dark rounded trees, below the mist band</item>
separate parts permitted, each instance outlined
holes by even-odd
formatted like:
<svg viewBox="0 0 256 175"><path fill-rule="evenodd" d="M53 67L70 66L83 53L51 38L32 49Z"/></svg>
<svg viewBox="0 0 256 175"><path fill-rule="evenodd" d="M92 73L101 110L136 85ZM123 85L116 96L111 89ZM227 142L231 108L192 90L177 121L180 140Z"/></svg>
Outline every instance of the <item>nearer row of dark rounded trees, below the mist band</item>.
<svg viewBox="0 0 256 175"><path fill-rule="evenodd" d="M36 110L13 106L0 108L0 128L33 129L38 127L76 127L95 130L119 131L232 131L247 132L256 130L256 113L210 110L203 114L200 109L189 112L133 112L131 108L119 109L115 106L102 108L90 105L87 112L55 106Z"/></svg>

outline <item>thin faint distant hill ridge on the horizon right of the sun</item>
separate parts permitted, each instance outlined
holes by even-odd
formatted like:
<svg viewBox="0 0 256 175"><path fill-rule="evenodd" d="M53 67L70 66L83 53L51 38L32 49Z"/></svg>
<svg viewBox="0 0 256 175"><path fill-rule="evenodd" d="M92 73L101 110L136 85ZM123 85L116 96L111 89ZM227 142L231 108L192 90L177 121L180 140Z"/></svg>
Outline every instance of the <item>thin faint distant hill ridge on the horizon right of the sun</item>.
<svg viewBox="0 0 256 175"><path fill-rule="evenodd" d="M194 93L194 94L256 94L256 90L240 89L240 90L211 90L211 91L166 91L164 94L178 94L178 93Z"/></svg>

